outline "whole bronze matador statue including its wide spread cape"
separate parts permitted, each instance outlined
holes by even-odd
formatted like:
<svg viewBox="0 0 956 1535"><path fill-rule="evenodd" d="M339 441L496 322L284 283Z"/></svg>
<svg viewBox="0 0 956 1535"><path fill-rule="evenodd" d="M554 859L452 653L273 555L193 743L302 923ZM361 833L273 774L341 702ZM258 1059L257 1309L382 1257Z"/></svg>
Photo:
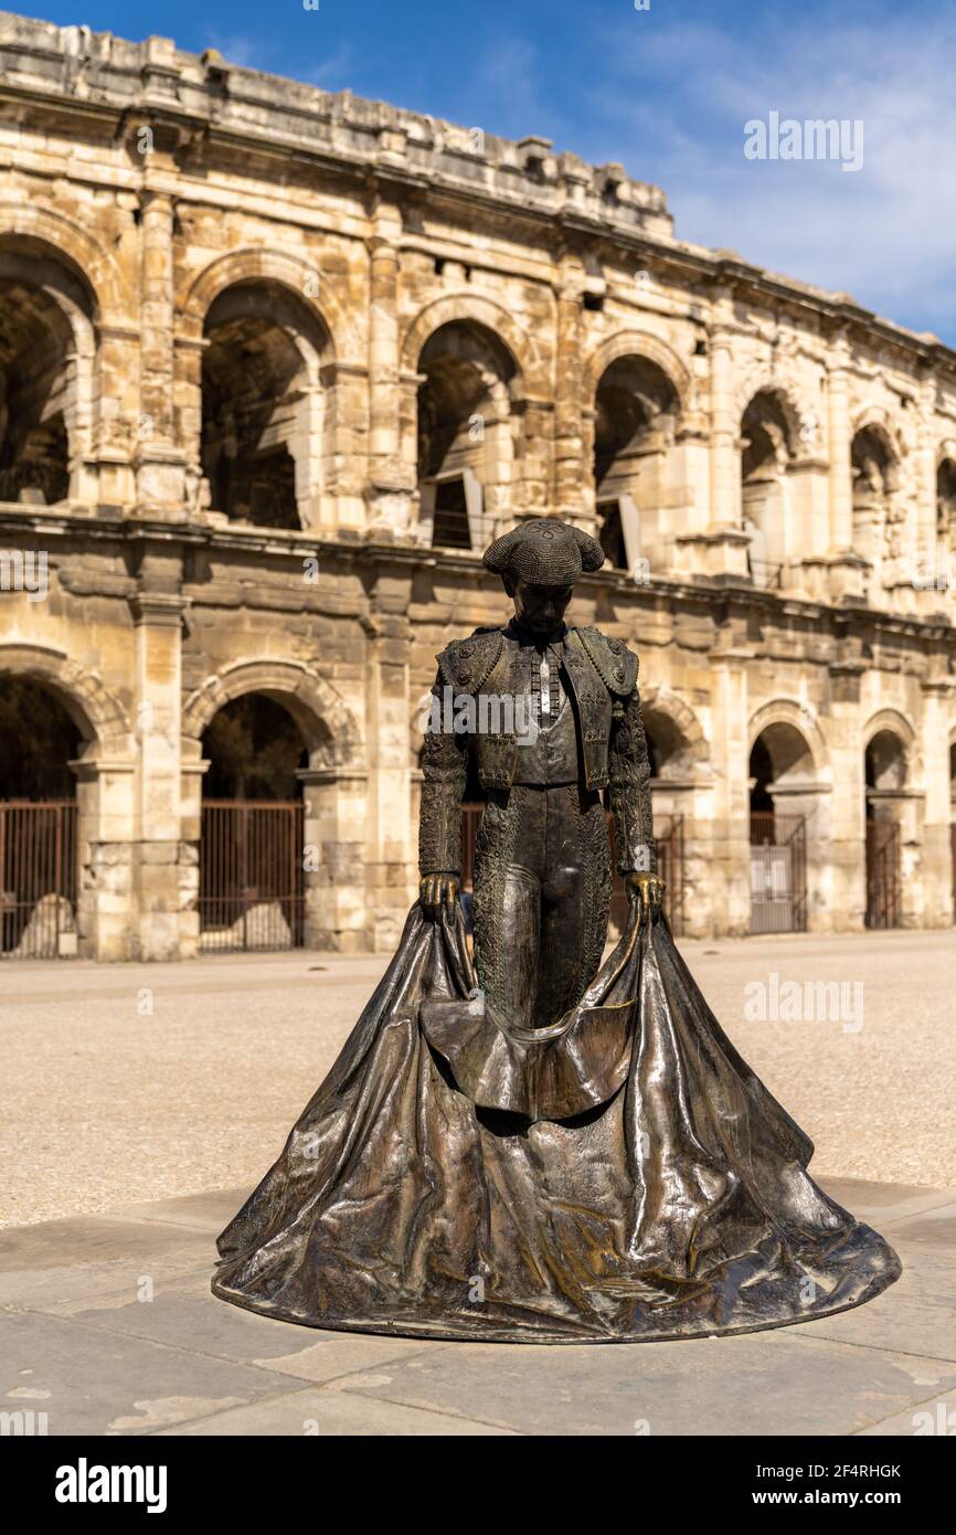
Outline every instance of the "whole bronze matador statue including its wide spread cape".
<svg viewBox="0 0 956 1535"><path fill-rule="evenodd" d="M637 657L563 614L603 562L534 519L485 553L503 628L439 657L420 896L285 1150L219 1237L213 1292L310 1326L649 1342L783 1326L899 1276L707 1008L661 910ZM474 962L468 772L486 795ZM611 898L602 795L629 892Z"/></svg>

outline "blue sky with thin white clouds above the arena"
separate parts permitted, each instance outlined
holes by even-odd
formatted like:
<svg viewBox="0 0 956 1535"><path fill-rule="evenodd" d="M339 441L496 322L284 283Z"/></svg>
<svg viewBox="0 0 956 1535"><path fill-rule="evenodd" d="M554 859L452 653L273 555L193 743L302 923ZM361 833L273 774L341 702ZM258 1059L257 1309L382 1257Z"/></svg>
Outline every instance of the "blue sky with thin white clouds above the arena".
<svg viewBox="0 0 956 1535"><path fill-rule="evenodd" d="M956 345L956 6L945 0L72 0L14 6L539 134L664 187L680 238ZM862 169L753 161L744 123L861 120Z"/></svg>

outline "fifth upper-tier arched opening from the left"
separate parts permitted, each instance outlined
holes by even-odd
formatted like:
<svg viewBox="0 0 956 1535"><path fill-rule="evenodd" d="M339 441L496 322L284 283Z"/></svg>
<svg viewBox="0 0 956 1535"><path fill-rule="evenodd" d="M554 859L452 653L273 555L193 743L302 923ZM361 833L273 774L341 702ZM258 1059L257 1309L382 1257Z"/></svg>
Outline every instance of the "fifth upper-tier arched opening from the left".
<svg viewBox="0 0 956 1535"><path fill-rule="evenodd" d="M793 430L784 398L760 390L741 421L741 507L747 571L755 586L783 585L787 557L789 473L795 457Z"/></svg>

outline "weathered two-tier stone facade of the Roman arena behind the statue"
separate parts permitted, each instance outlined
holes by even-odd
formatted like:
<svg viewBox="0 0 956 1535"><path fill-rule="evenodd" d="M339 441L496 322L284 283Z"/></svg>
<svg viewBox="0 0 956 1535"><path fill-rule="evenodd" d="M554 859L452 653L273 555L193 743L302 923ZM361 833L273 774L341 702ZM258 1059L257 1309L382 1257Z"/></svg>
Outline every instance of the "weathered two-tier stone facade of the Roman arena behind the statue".
<svg viewBox="0 0 956 1535"><path fill-rule="evenodd" d="M953 921L953 352L545 140L6 14L0 81L0 683L80 731L81 953L196 952L253 692L308 754L307 941L388 949L419 700L537 514L614 553L571 617L640 652L686 930L749 927L755 743L809 927L862 926L867 815Z"/></svg>

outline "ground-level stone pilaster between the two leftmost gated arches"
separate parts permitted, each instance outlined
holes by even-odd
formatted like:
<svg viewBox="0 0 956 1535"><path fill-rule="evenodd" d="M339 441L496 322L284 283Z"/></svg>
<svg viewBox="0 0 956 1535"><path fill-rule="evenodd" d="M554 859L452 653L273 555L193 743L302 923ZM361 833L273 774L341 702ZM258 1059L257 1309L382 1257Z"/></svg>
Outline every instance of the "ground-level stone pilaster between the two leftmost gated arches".
<svg viewBox="0 0 956 1535"><path fill-rule="evenodd" d="M144 559L141 591L130 600L135 623L138 741L134 807L137 958L181 958L181 916L190 901L190 870L181 863L180 708L183 597L170 589L178 556ZM184 846L184 844L183 844Z"/></svg>

